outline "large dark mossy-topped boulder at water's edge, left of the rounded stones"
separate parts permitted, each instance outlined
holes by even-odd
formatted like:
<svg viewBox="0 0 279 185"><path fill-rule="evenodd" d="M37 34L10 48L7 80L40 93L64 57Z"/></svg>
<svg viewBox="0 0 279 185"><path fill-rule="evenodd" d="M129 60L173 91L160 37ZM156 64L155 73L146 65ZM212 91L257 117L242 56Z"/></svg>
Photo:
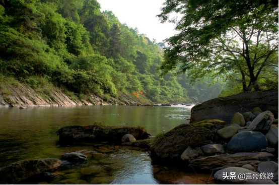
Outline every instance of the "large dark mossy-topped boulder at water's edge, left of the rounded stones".
<svg viewBox="0 0 279 185"><path fill-rule="evenodd" d="M166 134L154 138L151 150L161 158L180 157L189 146L201 146L213 140L214 134L204 127L182 124Z"/></svg>

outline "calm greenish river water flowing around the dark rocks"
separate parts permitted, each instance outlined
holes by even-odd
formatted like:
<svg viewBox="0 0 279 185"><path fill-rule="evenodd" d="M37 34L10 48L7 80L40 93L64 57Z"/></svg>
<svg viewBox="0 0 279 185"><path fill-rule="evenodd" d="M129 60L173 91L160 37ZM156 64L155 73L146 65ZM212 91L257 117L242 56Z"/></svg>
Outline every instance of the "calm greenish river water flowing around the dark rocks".
<svg viewBox="0 0 279 185"><path fill-rule="evenodd" d="M157 135L187 123L191 107L0 108L0 167L25 159L60 158L66 152L82 151L88 156L86 162L64 165L52 183L156 184L147 153L122 148L101 154L94 146L59 146L55 131L97 121L107 126L142 126L151 135Z"/></svg>

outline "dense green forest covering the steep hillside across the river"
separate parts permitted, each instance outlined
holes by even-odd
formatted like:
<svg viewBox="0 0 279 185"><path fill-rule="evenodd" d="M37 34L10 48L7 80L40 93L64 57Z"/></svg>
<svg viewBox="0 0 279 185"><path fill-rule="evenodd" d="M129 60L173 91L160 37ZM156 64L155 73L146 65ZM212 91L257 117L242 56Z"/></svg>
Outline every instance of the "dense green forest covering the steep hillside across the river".
<svg viewBox="0 0 279 185"><path fill-rule="evenodd" d="M164 43L101 12L96 0L1 0L0 42L3 96L11 93L7 83L24 83L46 98L55 87L72 98L125 94L140 102L201 102L222 90L242 91L233 78L195 78L200 83L193 84L191 69L164 72ZM265 89L277 87L270 82Z"/></svg>

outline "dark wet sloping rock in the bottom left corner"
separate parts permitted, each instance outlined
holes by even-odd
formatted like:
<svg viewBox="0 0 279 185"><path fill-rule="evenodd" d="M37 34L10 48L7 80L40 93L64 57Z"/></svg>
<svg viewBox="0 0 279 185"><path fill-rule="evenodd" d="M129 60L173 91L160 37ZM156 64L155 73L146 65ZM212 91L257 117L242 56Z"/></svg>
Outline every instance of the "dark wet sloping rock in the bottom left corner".
<svg viewBox="0 0 279 185"><path fill-rule="evenodd" d="M19 161L0 168L0 184L13 184L31 176L54 170L63 162L55 158Z"/></svg>

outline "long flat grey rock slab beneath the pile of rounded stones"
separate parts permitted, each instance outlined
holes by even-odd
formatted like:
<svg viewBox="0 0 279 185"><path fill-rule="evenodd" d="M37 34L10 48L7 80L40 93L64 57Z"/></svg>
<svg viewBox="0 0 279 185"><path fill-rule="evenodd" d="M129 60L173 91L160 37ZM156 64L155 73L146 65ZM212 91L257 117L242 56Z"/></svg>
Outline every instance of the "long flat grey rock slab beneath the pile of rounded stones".
<svg viewBox="0 0 279 185"><path fill-rule="evenodd" d="M191 160L189 166L192 166L195 169L216 171L233 166L241 167L245 164L253 166L260 163L260 161L272 160L273 157L273 154L267 152L241 152L230 155L222 154Z"/></svg>

